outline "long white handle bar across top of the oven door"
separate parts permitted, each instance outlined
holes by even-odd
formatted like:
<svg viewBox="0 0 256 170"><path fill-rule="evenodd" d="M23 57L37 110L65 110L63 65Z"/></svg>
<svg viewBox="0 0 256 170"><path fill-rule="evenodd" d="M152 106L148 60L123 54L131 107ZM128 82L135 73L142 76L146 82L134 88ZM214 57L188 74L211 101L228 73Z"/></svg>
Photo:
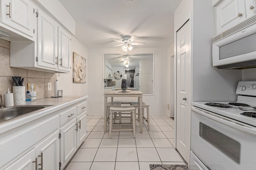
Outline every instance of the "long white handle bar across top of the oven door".
<svg viewBox="0 0 256 170"><path fill-rule="evenodd" d="M200 115L206 116L210 119L213 119L215 121L223 123L224 125L235 128L235 129L237 129L239 131L242 131L244 133L248 133L248 134L256 136L256 127L247 125L245 123L236 121L234 119L230 119L228 117L224 117L222 115L218 115L216 113L212 113L210 111L207 111L207 110L195 107L195 106L192 106L191 109L193 111L195 111L196 113L199 113Z"/></svg>

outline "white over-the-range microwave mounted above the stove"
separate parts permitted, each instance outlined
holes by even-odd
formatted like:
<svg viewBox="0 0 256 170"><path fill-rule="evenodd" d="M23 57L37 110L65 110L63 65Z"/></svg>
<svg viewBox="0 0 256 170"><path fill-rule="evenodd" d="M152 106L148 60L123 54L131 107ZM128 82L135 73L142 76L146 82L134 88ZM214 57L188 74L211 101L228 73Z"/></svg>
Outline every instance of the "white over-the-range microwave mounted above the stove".
<svg viewBox="0 0 256 170"><path fill-rule="evenodd" d="M242 23L213 38L213 66L219 69L256 67L256 21L254 20Z"/></svg>

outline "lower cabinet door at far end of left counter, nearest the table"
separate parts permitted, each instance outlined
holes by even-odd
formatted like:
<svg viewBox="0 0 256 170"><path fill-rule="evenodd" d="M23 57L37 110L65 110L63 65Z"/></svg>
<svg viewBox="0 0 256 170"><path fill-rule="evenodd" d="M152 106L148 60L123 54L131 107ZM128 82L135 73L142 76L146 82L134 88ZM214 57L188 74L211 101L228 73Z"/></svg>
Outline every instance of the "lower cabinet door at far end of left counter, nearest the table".
<svg viewBox="0 0 256 170"><path fill-rule="evenodd" d="M77 132L77 147L79 147L82 142L84 141L85 135L87 133L87 127L86 127L86 111L79 115L77 118L78 123L78 132Z"/></svg>

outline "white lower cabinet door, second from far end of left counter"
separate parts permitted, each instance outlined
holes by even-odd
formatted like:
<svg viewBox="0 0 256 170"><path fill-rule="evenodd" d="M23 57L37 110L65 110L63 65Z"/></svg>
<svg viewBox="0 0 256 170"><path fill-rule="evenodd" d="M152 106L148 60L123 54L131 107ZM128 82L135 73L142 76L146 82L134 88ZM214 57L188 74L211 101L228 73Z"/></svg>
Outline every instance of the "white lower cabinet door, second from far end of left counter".
<svg viewBox="0 0 256 170"><path fill-rule="evenodd" d="M74 118L60 129L60 162L64 167L76 151L77 123Z"/></svg>

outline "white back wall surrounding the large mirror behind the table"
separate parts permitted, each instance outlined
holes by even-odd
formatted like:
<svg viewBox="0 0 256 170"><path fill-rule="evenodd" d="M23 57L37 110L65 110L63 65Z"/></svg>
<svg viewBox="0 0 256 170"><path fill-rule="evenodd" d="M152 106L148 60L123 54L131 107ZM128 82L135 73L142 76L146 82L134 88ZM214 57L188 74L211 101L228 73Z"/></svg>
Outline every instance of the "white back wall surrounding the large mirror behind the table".
<svg viewBox="0 0 256 170"><path fill-rule="evenodd" d="M88 114L104 114L104 96L102 90L102 54L121 53L122 49L89 49L88 50ZM150 105L150 114L167 113L167 49L132 49L131 53L154 53L154 96L143 96L143 101ZM124 100L124 99L118 99ZM130 100L130 99L129 99ZM133 99L134 101L136 100Z"/></svg>

